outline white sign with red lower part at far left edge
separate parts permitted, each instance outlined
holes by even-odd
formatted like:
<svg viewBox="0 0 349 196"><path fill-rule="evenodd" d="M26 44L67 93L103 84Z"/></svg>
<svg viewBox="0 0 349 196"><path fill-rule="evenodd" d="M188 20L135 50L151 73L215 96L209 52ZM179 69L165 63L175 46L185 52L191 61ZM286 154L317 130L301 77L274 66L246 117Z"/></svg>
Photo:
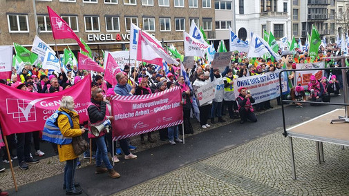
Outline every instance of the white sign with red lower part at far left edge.
<svg viewBox="0 0 349 196"><path fill-rule="evenodd" d="M11 78L12 46L0 46L0 79Z"/></svg>

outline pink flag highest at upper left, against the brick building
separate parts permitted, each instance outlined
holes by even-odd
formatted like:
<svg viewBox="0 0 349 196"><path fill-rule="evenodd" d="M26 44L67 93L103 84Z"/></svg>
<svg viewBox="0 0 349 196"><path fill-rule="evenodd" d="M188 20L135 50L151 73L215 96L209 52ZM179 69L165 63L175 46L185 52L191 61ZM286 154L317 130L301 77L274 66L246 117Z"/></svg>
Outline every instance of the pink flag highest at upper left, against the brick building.
<svg viewBox="0 0 349 196"><path fill-rule="evenodd" d="M77 37L75 32L68 26L66 21L59 17L49 6L47 6L47 10L48 17L50 17L53 39L75 39L77 45L79 45L84 52L88 52L84 44L82 44L79 37Z"/></svg>

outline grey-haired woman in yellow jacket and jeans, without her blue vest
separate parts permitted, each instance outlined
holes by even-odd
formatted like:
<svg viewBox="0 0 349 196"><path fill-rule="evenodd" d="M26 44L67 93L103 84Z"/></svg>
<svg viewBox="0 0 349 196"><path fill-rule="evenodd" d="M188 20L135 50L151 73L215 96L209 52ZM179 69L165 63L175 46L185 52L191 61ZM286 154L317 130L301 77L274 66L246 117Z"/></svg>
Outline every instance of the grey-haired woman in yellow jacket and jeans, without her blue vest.
<svg viewBox="0 0 349 196"><path fill-rule="evenodd" d="M68 113L73 121L73 128L70 127L69 119L66 115L59 115L57 124L64 137L77 137L85 133L84 128L79 128L79 115L74 110L74 99L71 96L62 97L61 106L58 110ZM75 155L72 144L58 145L59 161L66 161L64 168L64 185L66 195L79 195L82 190L77 189L78 183L74 182L75 169L77 166L77 155Z"/></svg>

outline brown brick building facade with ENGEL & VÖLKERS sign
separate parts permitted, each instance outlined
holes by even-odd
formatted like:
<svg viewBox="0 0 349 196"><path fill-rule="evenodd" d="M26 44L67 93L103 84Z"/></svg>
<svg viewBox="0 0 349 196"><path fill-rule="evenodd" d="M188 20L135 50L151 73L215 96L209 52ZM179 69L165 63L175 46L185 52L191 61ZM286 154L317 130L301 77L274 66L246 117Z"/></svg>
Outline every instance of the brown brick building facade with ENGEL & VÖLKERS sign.
<svg viewBox="0 0 349 196"><path fill-rule="evenodd" d="M163 40L164 44L182 46L183 31L189 32L191 21L202 26L208 39L215 39L213 0L23 0L1 3L1 45L16 42L29 48L38 35L54 46L47 6L86 41L96 57L101 56L102 49L129 48L131 22ZM79 50L71 39L56 42L58 50L66 46Z"/></svg>

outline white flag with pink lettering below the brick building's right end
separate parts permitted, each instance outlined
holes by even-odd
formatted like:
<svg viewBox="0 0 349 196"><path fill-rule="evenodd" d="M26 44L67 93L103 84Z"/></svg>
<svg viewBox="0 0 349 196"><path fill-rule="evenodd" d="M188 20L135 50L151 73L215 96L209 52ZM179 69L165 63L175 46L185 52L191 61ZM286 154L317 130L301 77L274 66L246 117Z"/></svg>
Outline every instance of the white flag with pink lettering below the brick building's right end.
<svg viewBox="0 0 349 196"><path fill-rule="evenodd" d="M183 37L185 42L185 56L205 57L205 51L209 48L208 46L196 41L187 32L183 32Z"/></svg>

